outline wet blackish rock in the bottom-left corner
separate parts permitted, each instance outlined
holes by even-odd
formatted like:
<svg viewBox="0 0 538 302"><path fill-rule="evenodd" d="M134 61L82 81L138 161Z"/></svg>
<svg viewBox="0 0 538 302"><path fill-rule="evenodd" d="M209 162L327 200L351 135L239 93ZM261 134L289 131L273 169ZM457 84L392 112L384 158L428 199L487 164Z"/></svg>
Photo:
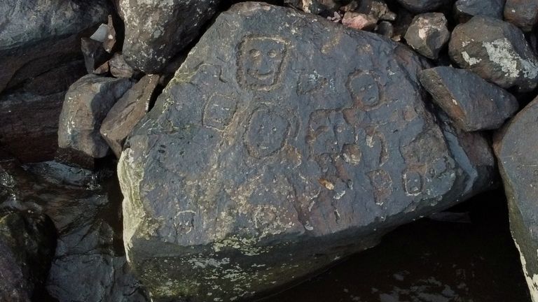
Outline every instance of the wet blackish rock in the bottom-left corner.
<svg viewBox="0 0 538 302"><path fill-rule="evenodd" d="M39 297L54 249L55 231L48 217L0 206L0 301Z"/></svg>

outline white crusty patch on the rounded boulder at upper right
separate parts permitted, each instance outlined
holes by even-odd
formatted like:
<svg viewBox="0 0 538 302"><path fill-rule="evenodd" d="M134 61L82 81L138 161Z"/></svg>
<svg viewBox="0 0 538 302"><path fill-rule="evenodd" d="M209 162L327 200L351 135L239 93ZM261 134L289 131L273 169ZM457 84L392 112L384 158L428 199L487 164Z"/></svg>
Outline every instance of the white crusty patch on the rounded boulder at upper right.
<svg viewBox="0 0 538 302"><path fill-rule="evenodd" d="M520 72L523 72L525 78L536 78L538 75L538 62L522 59L513 50L508 39L500 38L492 42L484 42L483 47L488 52L490 60L499 65L510 78L517 78Z"/></svg>

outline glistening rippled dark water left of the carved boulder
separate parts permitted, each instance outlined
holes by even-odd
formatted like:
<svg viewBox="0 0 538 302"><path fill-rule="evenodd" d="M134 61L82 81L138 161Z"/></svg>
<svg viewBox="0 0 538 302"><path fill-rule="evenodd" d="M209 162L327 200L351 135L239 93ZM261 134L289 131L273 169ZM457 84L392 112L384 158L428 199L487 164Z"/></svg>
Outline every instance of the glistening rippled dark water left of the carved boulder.
<svg viewBox="0 0 538 302"><path fill-rule="evenodd" d="M37 203L57 229L52 267L41 278L50 299L39 294L34 301L149 301L126 264L121 194L113 171L93 173L55 161L22 167L0 161L0 179L2 168L11 177L15 199Z"/></svg>

